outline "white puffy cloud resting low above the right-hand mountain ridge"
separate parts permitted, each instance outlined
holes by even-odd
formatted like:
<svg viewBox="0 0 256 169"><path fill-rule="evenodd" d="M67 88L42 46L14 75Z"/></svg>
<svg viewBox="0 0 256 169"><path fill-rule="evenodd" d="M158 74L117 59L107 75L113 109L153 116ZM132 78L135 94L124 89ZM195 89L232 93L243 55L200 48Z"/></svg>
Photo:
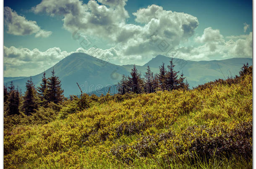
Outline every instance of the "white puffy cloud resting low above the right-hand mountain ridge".
<svg viewBox="0 0 256 169"><path fill-rule="evenodd" d="M231 39L225 41L219 30L206 28L202 36L196 37L196 42L204 43L203 45L175 48L168 53L168 56L174 55L177 58L197 61L235 57L252 58L252 32L248 35L229 38Z"/></svg>

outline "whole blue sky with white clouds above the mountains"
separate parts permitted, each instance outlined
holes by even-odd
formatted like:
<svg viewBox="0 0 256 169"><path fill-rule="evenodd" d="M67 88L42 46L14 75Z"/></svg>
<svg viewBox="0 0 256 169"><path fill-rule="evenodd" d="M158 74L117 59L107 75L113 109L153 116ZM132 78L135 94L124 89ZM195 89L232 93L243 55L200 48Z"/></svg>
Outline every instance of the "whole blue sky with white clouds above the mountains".
<svg viewBox="0 0 256 169"><path fill-rule="evenodd" d="M4 1L5 77L34 76L74 52L118 65L252 58L252 1Z"/></svg>

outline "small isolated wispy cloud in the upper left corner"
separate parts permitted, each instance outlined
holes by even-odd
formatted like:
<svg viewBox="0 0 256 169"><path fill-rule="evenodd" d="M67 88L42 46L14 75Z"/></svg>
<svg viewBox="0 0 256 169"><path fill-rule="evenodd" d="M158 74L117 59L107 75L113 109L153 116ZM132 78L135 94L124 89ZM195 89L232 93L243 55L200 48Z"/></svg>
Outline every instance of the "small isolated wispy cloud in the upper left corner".
<svg viewBox="0 0 256 169"><path fill-rule="evenodd" d="M36 21L26 20L24 16L18 15L9 7L4 7L4 23L8 28L7 33L13 35L31 35L46 38L52 34L51 31L42 30Z"/></svg>

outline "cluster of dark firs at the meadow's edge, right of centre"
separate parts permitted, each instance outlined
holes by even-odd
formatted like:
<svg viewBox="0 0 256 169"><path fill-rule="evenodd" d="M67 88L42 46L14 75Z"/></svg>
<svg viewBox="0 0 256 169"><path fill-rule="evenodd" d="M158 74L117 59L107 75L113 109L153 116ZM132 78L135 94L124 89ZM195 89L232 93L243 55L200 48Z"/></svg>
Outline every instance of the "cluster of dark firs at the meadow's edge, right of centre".
<svg viewBox="0 0 256 169"><path fill-rule="evenodd" d="M171 91L174 89L188 90L188 82L184 82L185 77L183 73L178 78L178 72L174 70L173 58L168 65L168 71L165 69L165 63L159 66L159 74L153 74L148 66L145 73L145 79L141 78L141 73L138 73L134 65L131 70L131 77L123 75L122 80L118 82L118 93L125 94L128 92L134 93L152 93L155 91Z"/></svg>

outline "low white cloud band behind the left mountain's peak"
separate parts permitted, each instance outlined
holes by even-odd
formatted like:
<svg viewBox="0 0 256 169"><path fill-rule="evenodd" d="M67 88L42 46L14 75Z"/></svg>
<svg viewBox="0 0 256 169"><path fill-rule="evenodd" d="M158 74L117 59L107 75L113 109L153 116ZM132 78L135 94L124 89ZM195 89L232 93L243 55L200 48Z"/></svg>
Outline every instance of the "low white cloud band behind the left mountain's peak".
<svg viewBox="0 0 256 169"><path fill-rule="evenodd" d="M44 69L48 69L58 63L72 53L87 53L104 61L117 59L118 51L115 48L102 50L99 48L78 48L75 51L61 51L60 48L54 47L46 51L40 51L37 48L29 50L28 48L10 48L4 46L4 76L33 76L42 73Z"/></svg>

